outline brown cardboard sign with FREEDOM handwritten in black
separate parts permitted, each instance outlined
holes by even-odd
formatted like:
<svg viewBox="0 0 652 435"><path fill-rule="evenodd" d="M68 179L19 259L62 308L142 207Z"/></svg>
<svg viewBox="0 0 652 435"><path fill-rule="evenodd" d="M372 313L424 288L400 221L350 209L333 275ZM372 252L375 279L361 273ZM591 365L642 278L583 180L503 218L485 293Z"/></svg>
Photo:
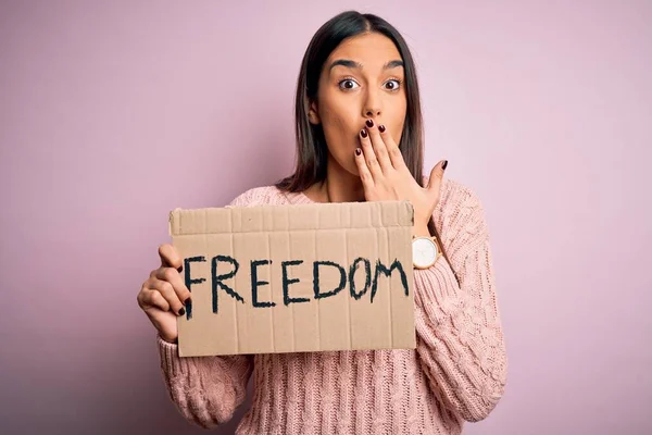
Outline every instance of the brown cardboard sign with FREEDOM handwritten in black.
<svg viewBox="0 0 652 435"><path fill-rule="evenodd" d="M176 209L179 356L416 346L409 201Z"/></svg>

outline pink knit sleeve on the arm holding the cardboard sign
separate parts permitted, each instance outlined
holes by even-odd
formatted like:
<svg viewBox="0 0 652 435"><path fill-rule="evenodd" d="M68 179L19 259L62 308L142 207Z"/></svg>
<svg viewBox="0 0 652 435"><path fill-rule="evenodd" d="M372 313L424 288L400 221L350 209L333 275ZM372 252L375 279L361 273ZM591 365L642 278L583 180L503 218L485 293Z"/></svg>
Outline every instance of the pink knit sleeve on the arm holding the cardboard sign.
<svg viewBox="0 0 652 435"><path fill-rule="evenodd" d="M263 201L264 190L251 189L226 207L248 207ZM247 396L253 370L251 356L185 357L178 346L156 336L161 370L170 398L179 412L202 427L229 421Z"/></svg>

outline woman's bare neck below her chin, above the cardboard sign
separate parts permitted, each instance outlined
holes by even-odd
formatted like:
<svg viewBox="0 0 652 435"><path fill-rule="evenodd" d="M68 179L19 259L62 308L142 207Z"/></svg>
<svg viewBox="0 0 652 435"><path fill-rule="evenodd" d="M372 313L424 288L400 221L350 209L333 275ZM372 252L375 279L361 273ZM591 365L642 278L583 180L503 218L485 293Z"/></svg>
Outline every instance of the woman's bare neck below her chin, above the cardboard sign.
<svg viewBox="0 0 652 435"><path fill-rule="evenodd" d="M358 175L344 170L328 154L326 179L311 186L305 195L315 202L364 201L364 188Z"/></svg>

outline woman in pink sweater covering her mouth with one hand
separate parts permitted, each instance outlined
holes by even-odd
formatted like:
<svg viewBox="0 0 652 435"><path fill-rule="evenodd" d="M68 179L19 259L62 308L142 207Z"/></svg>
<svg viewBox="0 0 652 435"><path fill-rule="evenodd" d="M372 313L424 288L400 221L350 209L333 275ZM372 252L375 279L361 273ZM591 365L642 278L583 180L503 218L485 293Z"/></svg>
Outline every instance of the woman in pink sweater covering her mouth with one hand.
<svg viewBox="0 0 652 435"><path fill-rule="evenodd" d="M138 302L159 332L172 399L212 427L231 418L254 372L239 434L460 434L496 407L506 378L489 236L478 198L443 179L447 161L422 176L418 86L400 34L358 12L322 26L301 65L296 123L294 174L229 207L410 200L414 236L444 249L414 271L417 348L181 359L175 316L190 293L164 245Z"/></svg>

